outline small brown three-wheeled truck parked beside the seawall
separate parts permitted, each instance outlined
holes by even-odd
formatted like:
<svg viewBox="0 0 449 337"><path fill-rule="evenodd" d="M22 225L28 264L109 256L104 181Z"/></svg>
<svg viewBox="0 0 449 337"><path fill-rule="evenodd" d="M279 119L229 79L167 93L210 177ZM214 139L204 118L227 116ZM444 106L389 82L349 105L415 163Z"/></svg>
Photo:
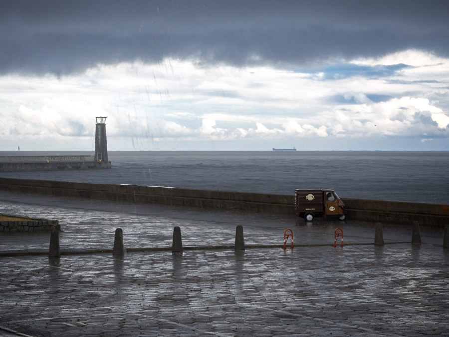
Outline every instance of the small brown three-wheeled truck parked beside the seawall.
<svg viewBox="0 0 449 337"><path fill-rule="evenodd" d="M315 217L345 220L345 204L334 190L295 190L295 209L306 221Z"/></svg>

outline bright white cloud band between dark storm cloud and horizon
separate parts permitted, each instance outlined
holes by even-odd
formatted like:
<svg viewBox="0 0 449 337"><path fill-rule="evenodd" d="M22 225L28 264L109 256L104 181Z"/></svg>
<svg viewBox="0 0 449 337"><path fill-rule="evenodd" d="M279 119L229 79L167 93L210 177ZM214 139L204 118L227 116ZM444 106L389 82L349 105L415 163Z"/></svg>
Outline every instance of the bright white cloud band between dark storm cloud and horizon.
<svg viewBox="0 0 449 337"><path fill-rule="evenodd" d="M100 64L60 77L0 76L1 140L15 144L20 135L30 144L40 137L48 146L64 139L75 146L93 137L99 115L108 117L108 144L116 149L129 148L136 138L167 140L168 146L174 139L291 144L334 137L357 144L380 136L406 136L416 143L449 138L449 59L408 50L353 62L338 76L326 68L178 59ZM399 63L409 66L376 72ZM91 142L85 144L90 149Z"/></svg>

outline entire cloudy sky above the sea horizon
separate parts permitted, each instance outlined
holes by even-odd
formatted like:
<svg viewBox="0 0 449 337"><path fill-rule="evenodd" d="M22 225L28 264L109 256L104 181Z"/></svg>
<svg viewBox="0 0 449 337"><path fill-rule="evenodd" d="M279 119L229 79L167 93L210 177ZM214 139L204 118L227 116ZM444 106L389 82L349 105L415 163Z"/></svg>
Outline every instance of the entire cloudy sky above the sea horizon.
<svg viewBox="0 0 449 337"><path fill-rule="evenodd" d="M449 1L0 1L0 150L449 150Z"/></svg>

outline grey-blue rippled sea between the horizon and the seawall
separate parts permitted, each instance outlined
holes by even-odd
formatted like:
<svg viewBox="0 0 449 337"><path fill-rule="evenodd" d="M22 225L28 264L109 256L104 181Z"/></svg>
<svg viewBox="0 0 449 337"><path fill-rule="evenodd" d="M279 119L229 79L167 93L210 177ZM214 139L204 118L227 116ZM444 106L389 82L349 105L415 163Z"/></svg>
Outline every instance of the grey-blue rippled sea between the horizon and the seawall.
<svg viewBox="0 0 449 337"><path fill-rule="evenodd" d="M92 151L0 151L10 155ZM1 177L449 204L449 152L108 151L110 170L0 172Z"/></svg>

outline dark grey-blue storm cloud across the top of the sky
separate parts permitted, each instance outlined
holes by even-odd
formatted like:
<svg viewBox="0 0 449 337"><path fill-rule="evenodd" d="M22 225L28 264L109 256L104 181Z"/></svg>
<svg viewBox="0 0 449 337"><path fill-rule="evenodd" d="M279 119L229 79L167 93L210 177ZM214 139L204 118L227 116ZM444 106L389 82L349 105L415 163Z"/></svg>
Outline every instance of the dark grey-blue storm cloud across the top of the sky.
<svg viewBox="0 0 449 337"><path fill-rule="evenodd" d="M0 73L164 57L314 66L407 48L449 56L449 1L0 1Z"/></svg>

